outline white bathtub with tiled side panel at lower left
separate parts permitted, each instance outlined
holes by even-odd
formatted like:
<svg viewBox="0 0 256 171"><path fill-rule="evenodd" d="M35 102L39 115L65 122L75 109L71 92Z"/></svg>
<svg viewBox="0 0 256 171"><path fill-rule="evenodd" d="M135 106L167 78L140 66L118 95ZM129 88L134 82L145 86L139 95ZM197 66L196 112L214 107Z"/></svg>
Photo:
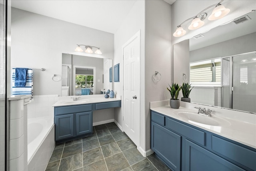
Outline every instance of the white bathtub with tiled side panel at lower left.
<svg viewBox="0 0 256 171"><path fill-rule="evenodd" d="M53 116L28 119L28 171L44 171L54 145Z"/></svg>

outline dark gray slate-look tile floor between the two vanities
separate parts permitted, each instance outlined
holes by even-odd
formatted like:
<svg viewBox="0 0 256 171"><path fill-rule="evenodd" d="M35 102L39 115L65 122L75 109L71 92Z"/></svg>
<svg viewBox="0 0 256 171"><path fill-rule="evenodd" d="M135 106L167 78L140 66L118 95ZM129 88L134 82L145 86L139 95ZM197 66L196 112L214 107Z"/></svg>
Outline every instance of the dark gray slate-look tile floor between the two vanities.
<svg viewBox="0 0 256 171"><path fill-rule="evenodd" d="M112 123L93 127L92 136L56 144L46 171L169 171L156 155L143 157Z"/></svg>

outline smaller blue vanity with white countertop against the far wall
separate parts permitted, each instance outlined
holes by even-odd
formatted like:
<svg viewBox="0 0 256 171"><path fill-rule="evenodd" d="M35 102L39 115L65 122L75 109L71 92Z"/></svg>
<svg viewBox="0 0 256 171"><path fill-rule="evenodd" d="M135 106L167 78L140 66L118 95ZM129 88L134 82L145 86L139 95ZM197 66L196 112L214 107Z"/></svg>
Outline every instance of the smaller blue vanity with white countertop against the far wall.
<svg viewBox="0 0 256 171"><path fill-rule="evenodd" d="M55 141L61 143L92 134L95 110L121 107L120 98L60 100L54 105Z"/></svg>

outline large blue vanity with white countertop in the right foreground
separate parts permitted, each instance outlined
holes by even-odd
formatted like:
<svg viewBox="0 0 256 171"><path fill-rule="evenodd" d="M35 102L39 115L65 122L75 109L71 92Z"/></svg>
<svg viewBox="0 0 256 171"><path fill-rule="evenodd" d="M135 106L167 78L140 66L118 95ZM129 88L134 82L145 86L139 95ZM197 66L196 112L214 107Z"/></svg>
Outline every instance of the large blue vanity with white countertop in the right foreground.
<svg viewBox="0 0 256 171"><path fill-rule="evenodd" d="M255 123L201 116L191 106L150 109L151 149L174 171L256 170Z"/></svg>

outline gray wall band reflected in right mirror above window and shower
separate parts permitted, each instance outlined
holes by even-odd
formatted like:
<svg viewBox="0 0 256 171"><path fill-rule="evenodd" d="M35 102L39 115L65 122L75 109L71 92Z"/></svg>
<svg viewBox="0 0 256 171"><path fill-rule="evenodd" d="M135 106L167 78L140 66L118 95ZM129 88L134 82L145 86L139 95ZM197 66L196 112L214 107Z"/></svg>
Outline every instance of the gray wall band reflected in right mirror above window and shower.
<svg viewBox="0 0 256 171"><path fill-rule="evenodd" d="M256 51L256 32L190 51L190 62Z"/></svg>

